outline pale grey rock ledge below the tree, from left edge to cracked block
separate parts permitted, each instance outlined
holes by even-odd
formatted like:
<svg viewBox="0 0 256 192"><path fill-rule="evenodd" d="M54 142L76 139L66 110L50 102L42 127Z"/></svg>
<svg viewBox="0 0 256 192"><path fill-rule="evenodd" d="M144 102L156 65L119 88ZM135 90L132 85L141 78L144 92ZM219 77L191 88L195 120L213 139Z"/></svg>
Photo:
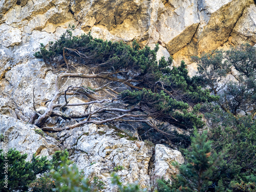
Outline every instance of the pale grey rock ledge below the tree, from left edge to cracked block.
<svg viewBox="0 0 256 192"><path fill-rule="evenodd" d="M127 135L106 125L87 124L58 134L40 135L38 127L13 117L0 116L0 132L8 135L8 148L27 153L27 161L35 153L48 158L58 150L67 148L71 160L82 170L86 178L99 178L105 183L104 191L115 191L111 185L111 173L116 171L125 183L139 182L142 188L152 184L151 178L163 176L168 179L178 171L172 161L183 163L179 151L158 144L153 147L143 141L130 140ZM121 136L121 137L120 137ZM1 148L4 142L0 142ZM155 159L153 165L151 160ZM115 170L115 167L121 167ZM151 167L154 167L151 170Z"/></svg>

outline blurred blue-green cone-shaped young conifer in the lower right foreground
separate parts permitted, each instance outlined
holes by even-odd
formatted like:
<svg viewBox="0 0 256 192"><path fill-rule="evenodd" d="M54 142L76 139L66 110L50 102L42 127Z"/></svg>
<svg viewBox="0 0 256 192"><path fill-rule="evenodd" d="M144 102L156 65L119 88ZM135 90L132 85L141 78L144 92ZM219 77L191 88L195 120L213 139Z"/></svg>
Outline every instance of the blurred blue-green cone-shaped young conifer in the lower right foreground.
<svg viewBox="0 0 256 192"><path fill-rule="evenodd" d="M212 152L211 141L206 140L205 132L200 136L195 130L194 135L191 139L191 151L185 150L188 163L175 164L180 170L180 191L207 191L212 184L215 167L223 162L221 153Z"/></svg>

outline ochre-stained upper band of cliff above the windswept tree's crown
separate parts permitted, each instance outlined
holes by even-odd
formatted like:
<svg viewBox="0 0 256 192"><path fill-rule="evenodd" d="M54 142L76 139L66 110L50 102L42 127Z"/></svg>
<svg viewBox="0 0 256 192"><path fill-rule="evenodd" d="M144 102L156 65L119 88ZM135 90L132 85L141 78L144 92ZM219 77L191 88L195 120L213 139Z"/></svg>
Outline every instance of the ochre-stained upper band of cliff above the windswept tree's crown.
<svg viewBox="0 0 256 192"><path fill-rule="evenodd" d="M141 46L159 42L170 55L177 57L178 63L183 57L220 47L232 31L232 42L254 44L255 41L253 0L3 0L0 3L0 40L5 47L18 45L34 30L55 33L59 26L67 28L68 24L107 40L137 39Z"/></svg>

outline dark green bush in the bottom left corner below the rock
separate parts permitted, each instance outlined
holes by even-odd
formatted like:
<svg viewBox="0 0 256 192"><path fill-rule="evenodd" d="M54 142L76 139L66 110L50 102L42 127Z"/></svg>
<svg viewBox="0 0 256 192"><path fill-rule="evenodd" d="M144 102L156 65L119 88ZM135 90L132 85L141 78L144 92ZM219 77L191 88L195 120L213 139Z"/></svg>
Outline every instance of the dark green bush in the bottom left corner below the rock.
<svg viewBox="0 0 256 192"><path fill-rule="evenodd" d="M2 191L26 191L28 188L33 191L52 191L55 186L54 180L49 174L50 169L55 170L59 174L63 163L69 165L68 151L57 151L52 156L52 160L47 160L47 157L36 157L33 154L31 162L27 162L27 154L21 155L19 151L10 148L8 151L8 188L4 187L4 176L0 174L0 187ZM5 156L3 150L0 150L0 167L4 167ZM36 179L36 175L41 175Z"/></svg>

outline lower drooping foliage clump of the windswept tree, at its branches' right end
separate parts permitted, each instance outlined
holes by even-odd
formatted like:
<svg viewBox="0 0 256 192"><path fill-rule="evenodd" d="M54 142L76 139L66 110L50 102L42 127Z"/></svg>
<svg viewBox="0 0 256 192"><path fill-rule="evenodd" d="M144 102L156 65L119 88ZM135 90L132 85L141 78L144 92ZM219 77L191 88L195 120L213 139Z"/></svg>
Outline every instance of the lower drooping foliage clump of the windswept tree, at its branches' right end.
<svg viewBox="0 0 256 192"><path fill-rule="evenodd" d="M151 90L143 89L142 91L124 91L121 93L125 103L132 106L139 105L142 109L150 113L151 116L158 120L175 124L183 129L204 125L201 116L197 112L188 112L188 103L177 101L167 96L163 91L153 93ZM179 110L179 111L177 111Z"/></svg>

